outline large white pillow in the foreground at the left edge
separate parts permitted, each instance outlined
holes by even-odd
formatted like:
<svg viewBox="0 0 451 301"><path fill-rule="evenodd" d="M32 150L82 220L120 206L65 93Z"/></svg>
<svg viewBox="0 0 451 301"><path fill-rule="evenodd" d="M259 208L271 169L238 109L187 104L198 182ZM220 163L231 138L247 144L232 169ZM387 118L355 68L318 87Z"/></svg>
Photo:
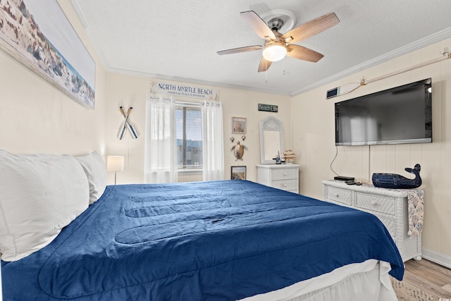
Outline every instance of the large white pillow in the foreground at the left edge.
<svg viewBox="0 0 451 301"><path fill-rule="evenodd" d="M0 253L7 262L48 245L89 204L72 156L20 156L0 149Z"/></svg>

